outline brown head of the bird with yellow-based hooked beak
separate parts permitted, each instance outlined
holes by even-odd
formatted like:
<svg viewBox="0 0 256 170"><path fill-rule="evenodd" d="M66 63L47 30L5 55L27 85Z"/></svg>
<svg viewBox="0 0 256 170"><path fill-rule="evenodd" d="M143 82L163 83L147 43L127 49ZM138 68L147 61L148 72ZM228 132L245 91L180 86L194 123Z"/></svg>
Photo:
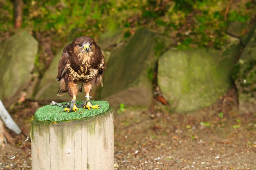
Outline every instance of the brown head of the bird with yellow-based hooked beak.
<svg viewBox="0 0 256 170"><path fill-rule="evenodd" d="M96 43L88 36L78 37L73 40L72 44L77 56L91 56L96 51Z"/></svg>

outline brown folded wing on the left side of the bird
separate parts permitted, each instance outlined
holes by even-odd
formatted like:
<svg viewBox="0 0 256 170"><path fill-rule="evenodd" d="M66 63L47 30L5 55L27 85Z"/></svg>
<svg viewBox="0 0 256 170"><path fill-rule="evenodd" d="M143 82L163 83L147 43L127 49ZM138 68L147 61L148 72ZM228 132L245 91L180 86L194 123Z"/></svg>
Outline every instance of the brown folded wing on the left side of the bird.
<svg viewBox="0 0 256 170"><path fill-rule="evenodd" d="M58 63L58 76L56 77L56 81L61 80L65 72L67 72L68 67L70 66L70 55L68 54L68 47L69 45L64 47L61 59Z"/></svg>

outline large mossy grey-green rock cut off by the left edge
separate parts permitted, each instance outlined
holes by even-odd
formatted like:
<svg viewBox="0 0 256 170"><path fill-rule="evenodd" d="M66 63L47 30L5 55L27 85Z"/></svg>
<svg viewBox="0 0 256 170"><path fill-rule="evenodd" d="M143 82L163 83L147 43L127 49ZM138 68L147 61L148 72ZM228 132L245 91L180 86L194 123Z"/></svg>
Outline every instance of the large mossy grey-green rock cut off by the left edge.
<svg viewBox="0 0 256 170"><path fill-rule="evenodd" d="M20 31L0 44L0 98L9 107L32 78L38 42Z"/></svg>

